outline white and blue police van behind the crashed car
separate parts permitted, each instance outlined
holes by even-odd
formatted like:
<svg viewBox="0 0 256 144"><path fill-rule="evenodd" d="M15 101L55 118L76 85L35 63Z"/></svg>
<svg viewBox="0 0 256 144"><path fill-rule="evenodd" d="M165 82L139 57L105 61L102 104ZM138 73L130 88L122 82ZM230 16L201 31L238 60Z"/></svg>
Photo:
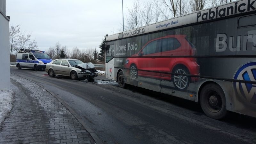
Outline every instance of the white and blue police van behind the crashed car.
<svg viewBox="0 0 256 144"><path fill-rule="evenodd" d="M16 55L16 67L33 68L35 71L45 69L46 63L52 59L44 51L39 50L23 50L21 49Z"/></svg>

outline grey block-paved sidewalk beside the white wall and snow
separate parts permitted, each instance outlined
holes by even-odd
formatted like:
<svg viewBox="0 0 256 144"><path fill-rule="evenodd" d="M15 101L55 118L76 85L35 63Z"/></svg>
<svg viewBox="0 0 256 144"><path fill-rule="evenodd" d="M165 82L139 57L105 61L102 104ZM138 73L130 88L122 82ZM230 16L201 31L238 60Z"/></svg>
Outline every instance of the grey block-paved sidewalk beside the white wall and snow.
<svg viewBox="0 0 256 144"><path fill-rule="evenodd" d="M16 75L11 83L14 106L2 123L0 143L95 143L52 94Z"/></svg>

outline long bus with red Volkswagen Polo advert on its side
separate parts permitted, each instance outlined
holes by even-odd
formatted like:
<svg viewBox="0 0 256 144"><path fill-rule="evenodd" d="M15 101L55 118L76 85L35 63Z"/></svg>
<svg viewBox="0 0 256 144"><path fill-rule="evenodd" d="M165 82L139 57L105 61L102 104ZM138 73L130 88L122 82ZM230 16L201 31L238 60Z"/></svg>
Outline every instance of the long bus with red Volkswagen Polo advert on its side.
<svg viewBox="0 0 256 144"><path fill-rule="evenodd" d="M256 0L238 0L106 38L106 78L256 117Z"/></svg>

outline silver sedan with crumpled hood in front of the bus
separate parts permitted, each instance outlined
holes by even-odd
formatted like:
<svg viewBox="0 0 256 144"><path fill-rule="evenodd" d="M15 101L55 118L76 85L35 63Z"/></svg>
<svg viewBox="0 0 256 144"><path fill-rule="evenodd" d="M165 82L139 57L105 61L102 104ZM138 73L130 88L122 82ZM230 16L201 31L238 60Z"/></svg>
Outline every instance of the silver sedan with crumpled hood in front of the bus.
<svg viewBox="0 0 256 144"><path fill-rule="evenodd" d="M98 76L97 70L91 62L84 63L76 59L57 59L46 64L45 72L50 77L70 76L72 80L92 79Z"/></svg>

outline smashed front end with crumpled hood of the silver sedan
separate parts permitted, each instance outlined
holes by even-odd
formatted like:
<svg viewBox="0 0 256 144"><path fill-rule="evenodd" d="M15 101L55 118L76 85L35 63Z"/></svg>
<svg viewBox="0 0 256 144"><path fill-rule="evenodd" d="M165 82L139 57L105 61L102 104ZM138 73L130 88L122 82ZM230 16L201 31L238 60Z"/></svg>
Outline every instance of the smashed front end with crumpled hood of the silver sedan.
<svg viewBox="0 0 256 144"><path fill-rule="evenodd" d="M99 74L95 69L95 66L91 62L77 64L72 67L81 69L80 72L77 72L77 76L79 79L92 79L93 77L97 77Z"/></svg>

